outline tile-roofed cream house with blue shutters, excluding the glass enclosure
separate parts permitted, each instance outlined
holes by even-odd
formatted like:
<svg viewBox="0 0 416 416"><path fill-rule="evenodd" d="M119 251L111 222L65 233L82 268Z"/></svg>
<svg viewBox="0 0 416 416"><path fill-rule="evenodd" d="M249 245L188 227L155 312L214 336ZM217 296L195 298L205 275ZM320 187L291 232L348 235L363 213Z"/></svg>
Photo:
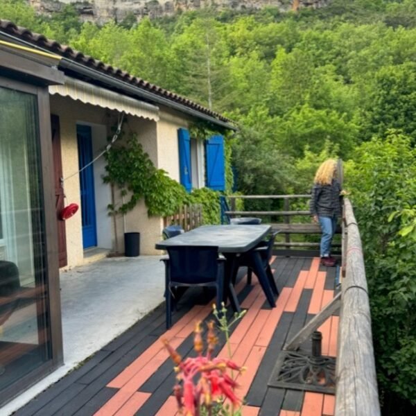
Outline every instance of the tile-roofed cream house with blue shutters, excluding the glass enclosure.
<svg viewBox="0 0 416 416"><path fill-rule="evenodd" d="M162 235L162 218L149 218L141 202L114 223L107 205L120 201L112 200L119 198L118 194L103 183L105 159L99 158L80 175L78 171L105 148L111 128L124 112L124 128L137 133L157 168L180 181L187 191L204 187L206 146L196 137L189 137L189 125L207 121L218 130L235 130L232 123L187 98L10 21L0 21L0 39L62 57L58 68L65 75L64 85L49 87L55 194L58 212L64 205L76 203L80 213L65 222L58 218L60 267L82 264L91 253L86 250L91 248L123 252L126 231L141 233L142 254L157 254L154 247ZM207 148L223 146L222 140L213 137L212 146ZM208 167L224 178L223 159ZM60 178L64 178L63 183ZM223 190L224 179L207 186Z"/></svg>

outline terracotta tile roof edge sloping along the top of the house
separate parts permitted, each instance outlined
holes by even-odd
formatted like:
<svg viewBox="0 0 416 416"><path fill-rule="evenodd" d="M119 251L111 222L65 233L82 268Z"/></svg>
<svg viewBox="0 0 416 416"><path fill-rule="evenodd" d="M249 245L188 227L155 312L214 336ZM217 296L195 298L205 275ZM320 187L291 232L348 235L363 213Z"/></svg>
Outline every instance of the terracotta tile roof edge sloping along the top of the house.
<svg viewBox="0 0 416 416"><path fill-rule="evenodd" d="M174 92L168 91L167 89L148 83L141 78L130 75L130 73L123 71L122 69L112 67L110 64L105 64L101 60L94 59L92 56L84 55L82 52L76 51L70 46L63 45L59 42L56 42L55 40L48 39L40 33L29 31L27 28L22 28L21 26L16 26L12 21L0 19L0 31L8 33L9 35L13 35L21 40L30 42L35 46L40 46L53 53L57 53L58 55L62 55L64 58L80 62L86 67L92 67L97 71L112 76L113 78L121 79L126 83L134 85L135 87L140 87L141 89L153 92L159 96L164 96L165 98L168 98L168 100L175 101L176 103L180 103L194 110L198 110L199 112L212 116L220 121L225 121L227 123L230 122L229 119L222 116L221 114L209 110L208 108L189 100L189 98L177 95Z"/></svg>

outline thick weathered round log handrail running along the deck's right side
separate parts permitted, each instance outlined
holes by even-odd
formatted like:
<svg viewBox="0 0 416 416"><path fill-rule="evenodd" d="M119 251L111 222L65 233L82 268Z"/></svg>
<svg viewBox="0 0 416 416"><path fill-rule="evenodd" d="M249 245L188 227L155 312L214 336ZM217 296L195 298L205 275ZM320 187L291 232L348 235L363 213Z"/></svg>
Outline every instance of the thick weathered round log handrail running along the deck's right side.
<svg viewBox="0 0 416 416"><path fill-rule="evenodd" d="M344 201L343 268L336 416L379 416L370 304L363 250L351 202Z"/></svg>

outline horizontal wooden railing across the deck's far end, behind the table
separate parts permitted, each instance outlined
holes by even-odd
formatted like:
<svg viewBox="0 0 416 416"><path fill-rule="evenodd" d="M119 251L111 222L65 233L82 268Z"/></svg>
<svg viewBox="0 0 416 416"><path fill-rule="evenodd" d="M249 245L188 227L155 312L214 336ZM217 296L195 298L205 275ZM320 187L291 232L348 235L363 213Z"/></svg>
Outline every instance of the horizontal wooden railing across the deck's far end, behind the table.
<svg viewBox="0 0 416 416"><path fill-rule="evenodd" d="M298 248L318 248L320 243L318 242L296 242L291 241L291 234L320 234L320 225L314 223L293 223L293 216L311 216L309 210L299 211L291 210L291 200L310 199L311 195L250 195L250 196L229 196L230 209L225 211L230 217L236 216L256 216L263 218L265 216L277 216L282 218L281 223L271 223L272 228L279 230L281 234L284 234L284 241L277 241L275 248L283 248L288 251L293 251ZM283 200L283 210L281 211L237 211L236 200ZM337 229L337 234L341 233L340 227ZM333 247L340 247L340 243L333 243Z"/></svg>

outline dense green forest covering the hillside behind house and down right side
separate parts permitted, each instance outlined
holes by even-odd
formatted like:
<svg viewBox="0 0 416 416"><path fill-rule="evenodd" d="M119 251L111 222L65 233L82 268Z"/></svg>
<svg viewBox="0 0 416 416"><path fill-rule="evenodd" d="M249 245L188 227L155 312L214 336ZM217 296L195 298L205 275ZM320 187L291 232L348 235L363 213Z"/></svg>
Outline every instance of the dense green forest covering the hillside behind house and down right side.
<svg viewBox="0 0 416 416"><path fill-rule="evenodd" d="M137 24L0 17L229 116L238 191L304 193L323 159L345 162L359 221L385 415L416 405L416 1L333 0L282 14L187 12Z"/></svg>

